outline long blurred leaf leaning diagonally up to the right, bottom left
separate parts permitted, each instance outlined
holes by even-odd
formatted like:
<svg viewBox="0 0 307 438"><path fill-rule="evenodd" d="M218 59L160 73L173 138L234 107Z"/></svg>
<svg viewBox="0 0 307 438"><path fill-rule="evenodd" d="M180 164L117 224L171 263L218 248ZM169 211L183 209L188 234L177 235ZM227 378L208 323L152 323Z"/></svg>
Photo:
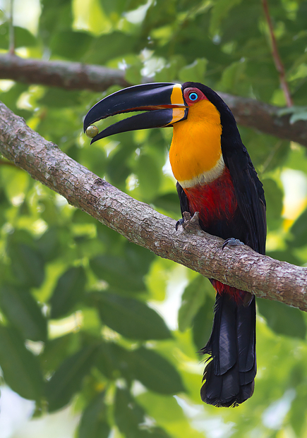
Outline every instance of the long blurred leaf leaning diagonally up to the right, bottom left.
<svg viewBox="0 0 307 438"><path fill-rule="evenodd" d="M81 348L61 364L46 385L46 398L49 412L63 408L73 394L80 390L83 378L90 372L97 347L94 345Z"/></svg>

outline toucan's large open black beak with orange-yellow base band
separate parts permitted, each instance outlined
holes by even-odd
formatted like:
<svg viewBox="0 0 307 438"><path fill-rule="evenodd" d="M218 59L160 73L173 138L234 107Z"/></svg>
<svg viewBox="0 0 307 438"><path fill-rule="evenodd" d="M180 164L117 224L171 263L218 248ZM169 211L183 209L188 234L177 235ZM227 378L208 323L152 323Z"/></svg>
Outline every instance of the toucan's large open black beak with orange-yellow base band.
<svg viewBox="0 0 307 438"><path fill-rule="evenodd" d="M84 119L84 132L92 123L131 111L148 111L121 120L95 135L91 144L109 135L128 130L162 128L184 120L188 106L184 102L181 84L152 83L135 85L102 99L88 111Z"/></svg>

